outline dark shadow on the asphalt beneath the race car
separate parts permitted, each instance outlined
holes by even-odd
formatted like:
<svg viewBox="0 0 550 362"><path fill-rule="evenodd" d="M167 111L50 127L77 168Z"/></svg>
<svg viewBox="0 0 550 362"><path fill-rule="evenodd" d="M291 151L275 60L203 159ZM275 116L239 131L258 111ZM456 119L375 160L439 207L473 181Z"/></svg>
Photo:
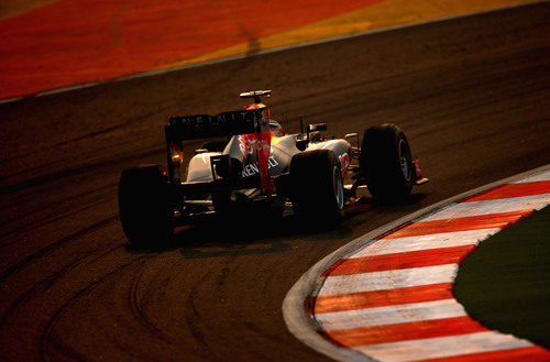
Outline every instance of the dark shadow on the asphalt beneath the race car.
<svg viewBox="0 0 550 362"><path fill-rule="evenodd" d="M155 246L128 245L131 253L162 253L179 250L186 259L208 259L233 255L280 253L293 248L289 240L305 242L340 240L350 238L352 228L361 222L366 212L393 213L405 207L410 212L418 209L426 197L413 195L399 205L377 205L372 198L363 197L346 208L344 221L339 224L304 220L292 210L282 217L268 212L252 212L233 218L231 221L212 219L195 226L176 229L174 238Z"/></svg>

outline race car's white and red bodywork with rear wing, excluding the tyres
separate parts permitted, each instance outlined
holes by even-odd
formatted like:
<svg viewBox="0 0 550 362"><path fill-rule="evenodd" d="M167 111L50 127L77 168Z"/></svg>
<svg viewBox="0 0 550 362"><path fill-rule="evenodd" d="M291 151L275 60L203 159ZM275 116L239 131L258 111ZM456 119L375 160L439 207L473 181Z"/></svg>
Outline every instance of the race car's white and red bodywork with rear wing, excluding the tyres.
<svg viewBox="0 0 550 362"><path fill-rule="evenodd" d="M314 150L330 150L340 162L342 175L349 167L352 146L345 140L329 140L320 135L323 124L309 124L306 134L280 132L278 123L270 119L268 108L260 96L271 91L241 94L255 102L242 111L218 116L198 114L174 117L165 127L168 152L168 178L178 195L179 217L194 218L216 210L220 198L239 202L271 199L288 202L289 168L293 156ZM228 136L221 151L197 150L185 165L182 161L183 141ZM187 168L187 172L186 172ZM226 200L227 201L227 200ZM216 205L215 205L216 204Z"/></svg>

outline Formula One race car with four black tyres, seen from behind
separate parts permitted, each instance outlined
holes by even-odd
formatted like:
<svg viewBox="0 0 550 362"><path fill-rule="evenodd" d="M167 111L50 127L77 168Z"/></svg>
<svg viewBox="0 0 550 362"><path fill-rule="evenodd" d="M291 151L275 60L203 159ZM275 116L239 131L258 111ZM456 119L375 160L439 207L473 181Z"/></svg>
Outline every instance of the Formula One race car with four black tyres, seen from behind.
<svg viewBox="0 0 550 362"><path fill-rule="evenodd" d="M260 99L271 95L271 90L241 94L254 100L241 111L169 119L168 171L144 165L124 169L120 178L120 218L131 242L160 242L170 238L177 226L211 215L243 215L257 202L271 210L292 205L300 217L337 222L359 187L366 185L375 200L387 202L428 182L395 124L367 129L361 147L356 133L326 141L324 123L285 135ZM220 136L227 139L196 150L185 167L184 141ZM348 141L353 139L356 146ZM353 184L344 185L346 174Z"/></svg>

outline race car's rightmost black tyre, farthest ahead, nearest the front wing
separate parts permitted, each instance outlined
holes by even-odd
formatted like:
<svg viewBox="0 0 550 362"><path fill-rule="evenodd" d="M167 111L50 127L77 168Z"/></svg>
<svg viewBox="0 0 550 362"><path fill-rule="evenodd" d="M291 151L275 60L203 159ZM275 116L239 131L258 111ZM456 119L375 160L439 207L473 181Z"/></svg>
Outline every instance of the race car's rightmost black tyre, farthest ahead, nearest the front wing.
<svg viewBox="0 0 550 362"><path fill-rule="evenodd" d="M367 129L361 146L360 168L376 201L405 199L415 179L410 147L403 131L395 124Z"/></svg>

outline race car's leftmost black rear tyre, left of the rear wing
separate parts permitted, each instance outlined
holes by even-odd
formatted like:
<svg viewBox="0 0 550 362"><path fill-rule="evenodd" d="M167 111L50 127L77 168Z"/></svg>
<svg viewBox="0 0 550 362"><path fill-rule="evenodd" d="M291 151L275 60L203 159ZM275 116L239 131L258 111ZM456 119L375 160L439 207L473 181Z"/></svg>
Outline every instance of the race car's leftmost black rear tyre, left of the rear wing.
<svg viewBox="0 0 550 362"><path fill-rule="evenodd" d="M131 244L154 245L174 234L168 178L163 167L144 165L122 172L119 211L122 229Z"/></svg>

